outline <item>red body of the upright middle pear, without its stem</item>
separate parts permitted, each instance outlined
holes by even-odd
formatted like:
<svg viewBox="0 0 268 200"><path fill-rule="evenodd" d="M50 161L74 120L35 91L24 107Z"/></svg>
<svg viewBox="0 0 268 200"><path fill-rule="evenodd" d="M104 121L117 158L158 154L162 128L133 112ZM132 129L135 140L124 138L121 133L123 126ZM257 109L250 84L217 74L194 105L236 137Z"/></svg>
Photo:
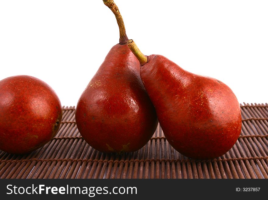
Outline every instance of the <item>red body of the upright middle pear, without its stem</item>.
<svg viewBox="0 0 268 200"><path fill-rule="evenodd" d="M139 72L139 61L128 46L116 44L82 93L76 125L94 149L133 152L155 132L156 112Z"/></svg>

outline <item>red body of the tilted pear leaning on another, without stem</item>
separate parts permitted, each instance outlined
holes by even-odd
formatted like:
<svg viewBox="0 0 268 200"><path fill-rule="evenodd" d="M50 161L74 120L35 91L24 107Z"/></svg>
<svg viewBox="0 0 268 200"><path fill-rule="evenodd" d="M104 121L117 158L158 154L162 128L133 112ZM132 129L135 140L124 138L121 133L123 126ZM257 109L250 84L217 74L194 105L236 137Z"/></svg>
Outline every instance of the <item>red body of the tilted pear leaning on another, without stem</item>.
<svg viewBox="0 0 268 200"><path fill-rule="evenodd" d="M168 142L194 159L222 156L241 132L241 109L223 82L185 71L161 55L141 67L145 89Z"/></svg>

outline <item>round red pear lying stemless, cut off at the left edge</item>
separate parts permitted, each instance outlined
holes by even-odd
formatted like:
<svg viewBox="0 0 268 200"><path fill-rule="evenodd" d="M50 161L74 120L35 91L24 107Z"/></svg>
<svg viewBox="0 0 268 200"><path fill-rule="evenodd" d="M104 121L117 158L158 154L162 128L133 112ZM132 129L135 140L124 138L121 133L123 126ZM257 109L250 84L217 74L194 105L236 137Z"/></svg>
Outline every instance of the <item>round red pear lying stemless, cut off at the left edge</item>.
<svg viewBox="0 0 268 200"><path fill-rule="evenodd" d="M30 153L58 132L62 106L55 91L27 75L0 81L0 149L12 154Z"/></svg>

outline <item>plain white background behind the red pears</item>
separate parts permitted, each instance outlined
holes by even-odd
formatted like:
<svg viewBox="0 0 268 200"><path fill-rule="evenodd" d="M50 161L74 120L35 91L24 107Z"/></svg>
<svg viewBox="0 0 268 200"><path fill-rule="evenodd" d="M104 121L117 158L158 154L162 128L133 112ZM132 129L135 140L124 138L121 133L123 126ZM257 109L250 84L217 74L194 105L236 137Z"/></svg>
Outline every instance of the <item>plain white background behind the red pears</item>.
<svg viewBox="0 0 268 200"><path fill-rule="evenodd" d="M268 103L268 1L115 0L129 39ZM0 0L0 80L32 75L76 105L119 31L102 0Z"/></svg>

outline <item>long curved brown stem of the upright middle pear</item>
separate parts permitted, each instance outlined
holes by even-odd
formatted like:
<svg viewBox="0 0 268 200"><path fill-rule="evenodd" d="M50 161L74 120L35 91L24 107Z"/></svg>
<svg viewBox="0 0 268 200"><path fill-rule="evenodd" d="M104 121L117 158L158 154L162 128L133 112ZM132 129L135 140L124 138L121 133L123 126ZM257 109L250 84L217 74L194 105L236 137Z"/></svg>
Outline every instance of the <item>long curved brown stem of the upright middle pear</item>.
<svg viewBox="0 0 268 200"><path fill-rule="evenodd" d="M119 44L126 44L129 39L125 31L125 24L124 24L123 18L119 12L117 5L115 4L113 0L102 0L102 1L109 9L111 9L111 11L115 15L115 18L119 27L119 34L120 34Z"/></svg>

